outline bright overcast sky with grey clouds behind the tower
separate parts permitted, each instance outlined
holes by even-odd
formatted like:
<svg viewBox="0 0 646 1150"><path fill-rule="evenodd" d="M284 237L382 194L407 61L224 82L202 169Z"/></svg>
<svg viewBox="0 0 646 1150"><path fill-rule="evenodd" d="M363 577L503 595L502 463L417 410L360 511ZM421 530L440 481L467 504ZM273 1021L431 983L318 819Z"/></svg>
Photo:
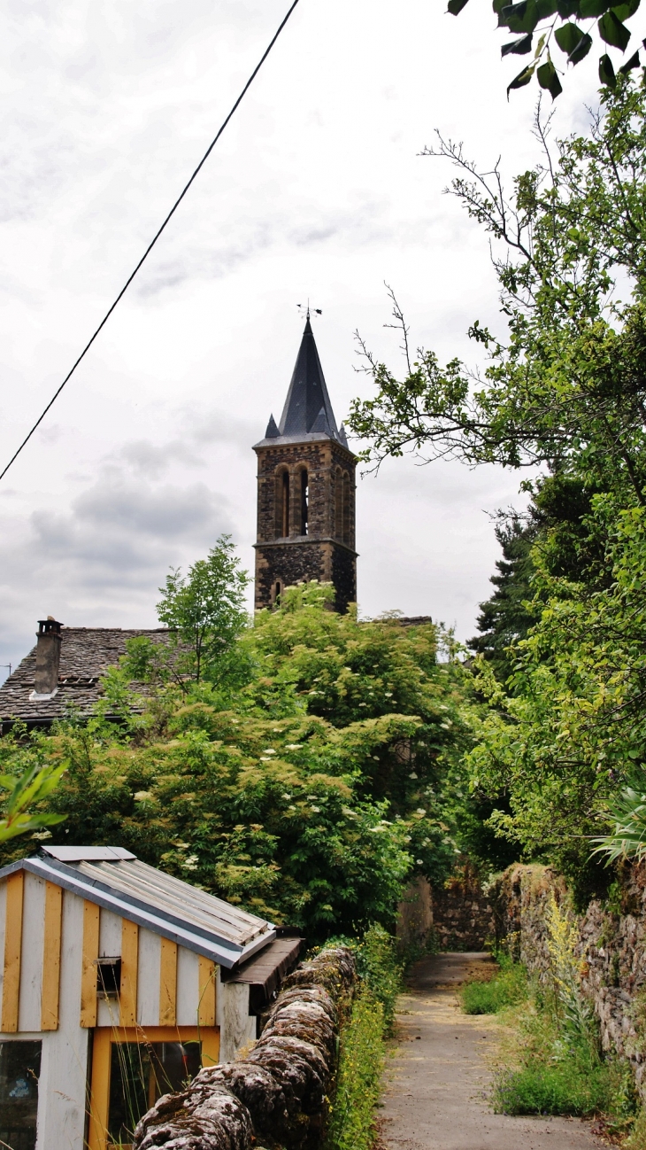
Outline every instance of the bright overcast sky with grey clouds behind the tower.
<svg viewBox="0 0 646 1150"><path fill-rule="evenodd" d="M397 365L472 355L500 328L487 238L441 191L433 130L508 172L536 156L533 86L505 85L489 3L301 0L108 328L0 484L0 659L36 620L154 626L169 566L230 531L253 565L255 457L279 415L308 297L337 419L353 332ZM13 454L200 159L287 0L5 0L0 38L0 455ZM472 8L472 10L471 10ZM587 69L585 71L585 69ZM594 67L555 129L582 130ZM357 489L359 599L468 638L521 476L385 465ZM0 672L5 674L3 670Z"/></svg>

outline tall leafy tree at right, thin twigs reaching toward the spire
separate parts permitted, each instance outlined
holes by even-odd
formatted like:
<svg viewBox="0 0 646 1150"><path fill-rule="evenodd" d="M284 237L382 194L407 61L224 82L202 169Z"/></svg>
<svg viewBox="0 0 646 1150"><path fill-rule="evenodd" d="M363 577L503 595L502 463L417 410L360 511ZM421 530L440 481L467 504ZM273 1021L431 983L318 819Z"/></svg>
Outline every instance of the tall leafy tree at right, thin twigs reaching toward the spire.
<svg viewBox="0 0 646 1150"><path fill-rule="evenodd" d="M582 899L607 881L591 843L613 826L621 837L617 791L646 758L644 101L623 79L590 136L547 151L509 198L440 144L467 210L509 245L497 263L508 335L472 325L482 377L425 352L402 382L370 361L377 397L353 412L374 466L413 450L545 468L529 485L531 545L485 620L506 666L495 677L477 662L489 710L474 715L467 768L485 826L557 866Z"/></svg>

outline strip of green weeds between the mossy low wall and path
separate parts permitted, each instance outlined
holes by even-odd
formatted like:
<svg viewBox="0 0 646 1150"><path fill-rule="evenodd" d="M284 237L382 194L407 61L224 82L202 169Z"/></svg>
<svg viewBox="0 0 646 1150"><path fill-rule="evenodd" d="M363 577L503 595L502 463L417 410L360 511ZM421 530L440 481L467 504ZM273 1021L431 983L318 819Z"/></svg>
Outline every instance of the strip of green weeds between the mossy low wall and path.
<svg viewBox="0 0 646 1150"><path fill-rule="evenodd" d="M384 1066L384 1007L369 987L354 1002L341 1029L337 1090L325 1150L369 1150Z"/></svg>

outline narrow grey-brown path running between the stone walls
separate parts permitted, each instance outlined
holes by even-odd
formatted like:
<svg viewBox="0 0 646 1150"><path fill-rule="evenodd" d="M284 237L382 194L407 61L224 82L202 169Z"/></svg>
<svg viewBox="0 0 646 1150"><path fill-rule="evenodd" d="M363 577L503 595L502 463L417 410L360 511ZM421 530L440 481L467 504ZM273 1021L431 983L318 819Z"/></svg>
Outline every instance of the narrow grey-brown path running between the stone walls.
<svg viewBox="0 0 646 1150"><path fill-rule="evenodd" d="M463 1014L455 994L486 963L487 954L438 954L414 967L386 1065L384 1150L598 1150L605 1143L590 1122L490 1110L485 1056L495 1049L497 1023L491 1015Z"/></svg>

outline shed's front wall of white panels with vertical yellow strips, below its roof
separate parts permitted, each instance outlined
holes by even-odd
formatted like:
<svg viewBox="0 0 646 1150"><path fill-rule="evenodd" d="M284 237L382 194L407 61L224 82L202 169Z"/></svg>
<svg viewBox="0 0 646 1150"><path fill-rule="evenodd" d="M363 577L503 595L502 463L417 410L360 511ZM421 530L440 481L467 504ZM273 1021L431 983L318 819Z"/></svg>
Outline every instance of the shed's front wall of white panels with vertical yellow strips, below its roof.
<svg viewBox="0 0 646 1150"><path fill-rule="evenodd" d="M116 997L97 991L101 957L121 957ZM37 1150L105 1150L111 1041L199 1036L208 1065L255 1037L247 986L28 871L0 880L0 1041L43 1043Z"/></svg>

